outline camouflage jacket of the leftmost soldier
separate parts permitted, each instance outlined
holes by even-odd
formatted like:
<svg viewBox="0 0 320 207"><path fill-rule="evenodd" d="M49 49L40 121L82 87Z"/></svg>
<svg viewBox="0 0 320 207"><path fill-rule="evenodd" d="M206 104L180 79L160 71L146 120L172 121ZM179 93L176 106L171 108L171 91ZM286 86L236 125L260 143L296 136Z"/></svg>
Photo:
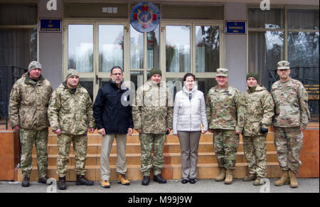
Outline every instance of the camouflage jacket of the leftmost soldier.
<svg viewBox="0 0 320 207"><path fill-rule="evenodd" d="M35 82L28 73L16 81L11 90L9 119L12 127L41 130L49 127L48 102L52 92L50 82L40 76Z"/></svg>

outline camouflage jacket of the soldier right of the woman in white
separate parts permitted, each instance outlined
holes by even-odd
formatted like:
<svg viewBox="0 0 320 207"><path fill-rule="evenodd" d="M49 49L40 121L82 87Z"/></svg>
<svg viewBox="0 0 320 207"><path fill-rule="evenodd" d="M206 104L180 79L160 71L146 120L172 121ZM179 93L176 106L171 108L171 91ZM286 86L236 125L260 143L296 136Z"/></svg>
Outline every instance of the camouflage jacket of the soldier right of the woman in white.
<svg viewBox="0 0 320 207"><path fill-rule="evenodd" d="M228 85L210 88L206 98L206 112L209 129L237 129L242 131L243 113L238 112L240 91Z"/></svg>

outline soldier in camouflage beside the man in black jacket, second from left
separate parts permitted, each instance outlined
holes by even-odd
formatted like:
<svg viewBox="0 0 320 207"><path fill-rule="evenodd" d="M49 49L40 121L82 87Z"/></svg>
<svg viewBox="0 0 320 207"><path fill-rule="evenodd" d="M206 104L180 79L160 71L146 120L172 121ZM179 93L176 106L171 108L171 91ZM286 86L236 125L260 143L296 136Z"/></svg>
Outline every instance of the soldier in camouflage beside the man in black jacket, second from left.
<svg viewBox="0 0 320 207"><path fill-rule="evenodd" d="M75 151L76 185L92 186L93 181L85 179L87 154L87 130L95 130L92 100L79 84L79 73L69 69L65 82L61 83L50 98L48 117L53 132L58 135L57 173L58 189L65 190L65 175L68 170L70 144Z"/></svg>

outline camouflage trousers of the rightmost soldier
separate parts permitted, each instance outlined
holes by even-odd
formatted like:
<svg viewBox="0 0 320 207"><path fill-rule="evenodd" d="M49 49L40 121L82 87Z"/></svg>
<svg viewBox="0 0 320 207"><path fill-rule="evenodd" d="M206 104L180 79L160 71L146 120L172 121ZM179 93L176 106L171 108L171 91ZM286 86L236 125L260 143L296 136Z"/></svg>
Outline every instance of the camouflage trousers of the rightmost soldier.
<svg viewBox="0 0 320 207"><path fill-rule="evenodd" d="M299 127L274 127L274 144L277 147L277 158L282 170L298 173L303 137L304 134Z"/></svg>

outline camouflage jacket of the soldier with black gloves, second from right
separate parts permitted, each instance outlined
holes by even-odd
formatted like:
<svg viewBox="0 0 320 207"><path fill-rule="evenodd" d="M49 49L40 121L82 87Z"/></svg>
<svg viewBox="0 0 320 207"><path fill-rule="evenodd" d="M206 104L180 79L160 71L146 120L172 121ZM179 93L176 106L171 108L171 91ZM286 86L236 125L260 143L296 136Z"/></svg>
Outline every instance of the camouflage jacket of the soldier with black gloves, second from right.
<svg viewBox="0 0 320 207"><path fill-rule="evenodd" d="M244 136L261 136L261 127L267 128L272 123L274 102L270 92L262 85L252 87L240 96L245 114Z"/></svg>

